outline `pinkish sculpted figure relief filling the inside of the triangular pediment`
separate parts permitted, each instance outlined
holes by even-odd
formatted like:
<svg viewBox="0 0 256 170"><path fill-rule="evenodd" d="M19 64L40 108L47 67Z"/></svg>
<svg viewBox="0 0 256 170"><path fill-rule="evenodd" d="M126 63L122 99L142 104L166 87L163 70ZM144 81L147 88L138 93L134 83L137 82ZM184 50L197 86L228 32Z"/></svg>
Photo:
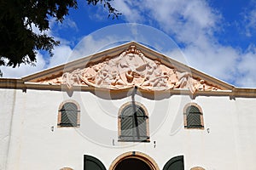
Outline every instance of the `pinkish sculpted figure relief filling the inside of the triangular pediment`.
<svg viewBox="0 0 256 170"><path fill-rule="evenodd" d="M169 89L189 89L196 91L216 91L224 88L212 85L200 77L193 77L189 71L181 71L175 65L166 65L159 58L149 58L136 44L119 54L90 61L85 67L61 72L59 76L37 79L39 83L54 85L91 86L95 88L125 89L131 87L148 91Z"/></svg>

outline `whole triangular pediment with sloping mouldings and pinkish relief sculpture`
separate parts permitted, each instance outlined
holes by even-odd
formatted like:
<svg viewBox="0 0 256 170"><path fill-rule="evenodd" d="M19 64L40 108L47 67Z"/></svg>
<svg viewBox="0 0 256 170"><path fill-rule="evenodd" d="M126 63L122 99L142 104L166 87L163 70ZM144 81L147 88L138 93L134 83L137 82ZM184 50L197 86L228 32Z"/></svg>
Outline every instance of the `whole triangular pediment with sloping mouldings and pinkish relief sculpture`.
<svg viewBox="0 0 256 170"><path fill-rule="evenodd" d="M188 89L220 91L228 83L196 71L137 42L129 42L47 71L24 77L25 82L119 90L137 87L147 91Z"/></svg>

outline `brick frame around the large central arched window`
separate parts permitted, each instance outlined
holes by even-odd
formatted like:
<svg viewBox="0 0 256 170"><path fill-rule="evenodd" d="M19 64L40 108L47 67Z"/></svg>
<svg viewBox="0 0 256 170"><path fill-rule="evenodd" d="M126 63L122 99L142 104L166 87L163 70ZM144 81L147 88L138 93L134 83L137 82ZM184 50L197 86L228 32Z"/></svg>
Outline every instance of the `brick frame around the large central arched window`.
<svg viewBox="0 0 256 170"><path fill-rule="evenodd" d="M127 107L129 105L131 105L131 107L132 107L133 102L131 102L131 101L127 102L119 108L119 114L118 114L118 138L119 139L118 139L118 141L119 142L150 142L149 127L148 127L148 124L149 124L148 123L148 120L149 120L148 111L147 111L146 107L143 104L141 104L139 102L136 102L136 101L134 102L134 105L137 105L138 107L140 107L143 110L144 117L146 117L145 123L146 123L146 137L147 137L147 139L143 139L143 140L140 140L140 139L122 139L122 137L121 137L122 136L122 130L121 130L122 129L122 127L121 127L122 112L125 109L125 107ZM133 136L136 137L135 134L133 134Z"/></svg>

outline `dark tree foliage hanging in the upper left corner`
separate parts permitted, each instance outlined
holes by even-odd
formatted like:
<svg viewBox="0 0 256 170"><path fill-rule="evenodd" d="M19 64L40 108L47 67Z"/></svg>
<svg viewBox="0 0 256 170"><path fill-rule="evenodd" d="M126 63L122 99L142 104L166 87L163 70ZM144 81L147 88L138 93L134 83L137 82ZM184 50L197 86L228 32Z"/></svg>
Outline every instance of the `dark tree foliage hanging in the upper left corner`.
<svg viewBox="0 0 256 170"><path fill-rule="evenodd" d="M110 5L112 0L86 0L102 3L117 18L119 13ZM0 65L19 66L36 62L36 50L52 50L60 42L49 37L49 19L62 22L69 8L78 8L77 0L0 0ZM32 26L39 32L33 32Z"/></svg>

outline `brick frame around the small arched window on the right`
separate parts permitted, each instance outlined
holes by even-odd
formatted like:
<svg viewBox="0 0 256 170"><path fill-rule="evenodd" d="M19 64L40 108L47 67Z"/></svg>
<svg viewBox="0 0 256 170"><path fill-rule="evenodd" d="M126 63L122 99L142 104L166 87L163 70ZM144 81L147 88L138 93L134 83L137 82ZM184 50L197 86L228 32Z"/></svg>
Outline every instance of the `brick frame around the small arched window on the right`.
<svg viewBox="0 0 256 170"><path fill-rule="evenodd" d="M187 116L187 110L190 106L195 106L200 111L200 121L201 121L201 127L188 127L188 116ZM196 103L189 103L184 106L183 108L183 123L185 129L201 129L203 130L205 128L204 126L204 119L203 119L203 111L201 109L201 106Z"/></svg>

